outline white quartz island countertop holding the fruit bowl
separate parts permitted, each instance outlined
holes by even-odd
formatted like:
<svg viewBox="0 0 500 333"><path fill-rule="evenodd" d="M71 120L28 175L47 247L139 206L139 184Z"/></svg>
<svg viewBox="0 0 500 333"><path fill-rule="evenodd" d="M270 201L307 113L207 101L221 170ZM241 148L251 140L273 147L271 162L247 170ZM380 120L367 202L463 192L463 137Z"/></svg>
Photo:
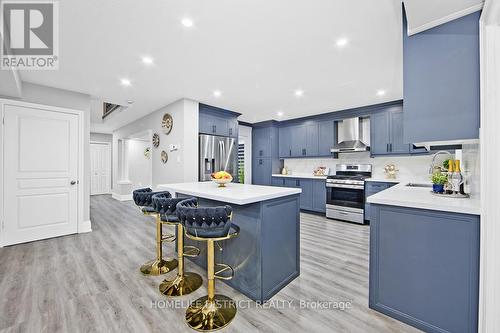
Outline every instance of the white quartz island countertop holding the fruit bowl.
<svg viewBox="0 0 500 333"><path fill-rule="evenodd" d="M157 188L171 193L182 193L236 205L246 205L302 192L300 188L238 183L229 183L226 184L226 187L217 187L217 184L213 182L162 184L158 185Z"/></svg>

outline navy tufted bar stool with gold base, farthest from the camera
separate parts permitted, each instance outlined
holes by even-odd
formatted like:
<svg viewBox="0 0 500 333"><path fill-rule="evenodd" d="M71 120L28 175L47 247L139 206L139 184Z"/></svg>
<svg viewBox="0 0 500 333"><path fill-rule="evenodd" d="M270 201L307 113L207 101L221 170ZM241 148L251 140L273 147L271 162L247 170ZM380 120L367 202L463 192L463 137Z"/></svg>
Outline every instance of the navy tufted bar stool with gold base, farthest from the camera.
<svg viewBox="0 0 500 333"><path fill-rule="evenodd" d="M164 195L170 197L166 191L153 192L150 188L142 188L132 193L132 198L137 206L141 207L144 215L154 216L156 220L156 259L148 261L141 266L140 270L144 275L162 275L177 267L177 259L163 259L163 242L174 242L175 235L164 235L162 229L161 214L153 206L153 197Z"/></svg>

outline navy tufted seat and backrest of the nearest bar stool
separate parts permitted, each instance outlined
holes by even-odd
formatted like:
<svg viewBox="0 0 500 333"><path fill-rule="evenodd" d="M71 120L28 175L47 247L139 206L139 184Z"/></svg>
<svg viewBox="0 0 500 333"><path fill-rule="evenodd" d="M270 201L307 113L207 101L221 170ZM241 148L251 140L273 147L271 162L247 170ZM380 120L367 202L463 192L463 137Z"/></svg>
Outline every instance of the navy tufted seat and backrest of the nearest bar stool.
<svg viewBox="0 0 500 333"><path fill-rule="evenodd" d="M186 232L201 238L227 236L231 228L231 206L197 207L196 198L177 204L177 216Z"/></svg>

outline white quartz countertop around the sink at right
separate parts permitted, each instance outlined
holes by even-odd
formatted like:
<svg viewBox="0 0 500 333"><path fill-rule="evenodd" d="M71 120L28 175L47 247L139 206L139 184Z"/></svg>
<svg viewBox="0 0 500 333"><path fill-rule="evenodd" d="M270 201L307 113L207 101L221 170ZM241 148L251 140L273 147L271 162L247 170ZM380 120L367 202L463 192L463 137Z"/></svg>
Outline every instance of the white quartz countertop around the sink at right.
<svg viewBox="0 0 500 333"><path fill-rule="evenodd" d="M471 198L443 198L431 193L430 187L409 187L401 182L367 198L369 203L439 210L461 214L481 214L481 202ZM415 182L418 183L418 182ZM421 183L421 182L420 182Z"/></svg>

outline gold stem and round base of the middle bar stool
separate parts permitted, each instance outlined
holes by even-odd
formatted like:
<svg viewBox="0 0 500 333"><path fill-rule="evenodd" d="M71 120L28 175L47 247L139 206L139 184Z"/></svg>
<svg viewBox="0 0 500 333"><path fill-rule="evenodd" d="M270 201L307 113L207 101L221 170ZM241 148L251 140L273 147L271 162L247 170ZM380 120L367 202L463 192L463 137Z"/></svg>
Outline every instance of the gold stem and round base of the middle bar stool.
<svg viewBox="0 0 500 333"><path fill-rule="evenodd" d="M184 272L184 227L177 224L177 276L173 280L163 280L160 292L165 296L188 295L201 287L203 279L199 274Z"/></svg>

